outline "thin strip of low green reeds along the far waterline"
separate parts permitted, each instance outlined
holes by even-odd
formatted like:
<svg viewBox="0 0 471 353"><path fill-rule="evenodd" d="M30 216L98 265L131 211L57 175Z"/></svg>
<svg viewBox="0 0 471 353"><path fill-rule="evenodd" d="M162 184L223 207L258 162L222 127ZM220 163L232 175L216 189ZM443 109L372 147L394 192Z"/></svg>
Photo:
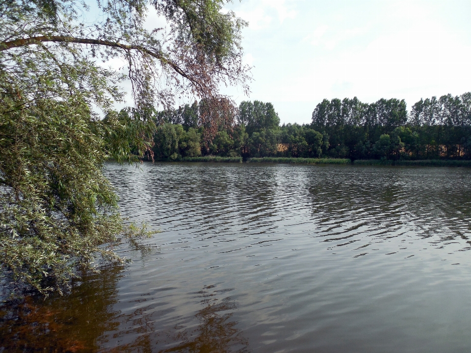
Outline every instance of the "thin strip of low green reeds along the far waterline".
<svg viewBox="0 0 471 353"><path fill-rule="evenodd" d="M110 159L111 161L111 159ZM150 161L145 159L145 161ZM368 166L404 166L404 167L461 167L471 168L471 160L425 159L425 160L390 160L390 159L357 159L349 158L301 158L301 157L253 157L243 160L242 157L220 157L207 155L202 157L185 157L177 160L157 159L156 162L193 162L193 163L273 163L273 164L337 164Z"/></svg>

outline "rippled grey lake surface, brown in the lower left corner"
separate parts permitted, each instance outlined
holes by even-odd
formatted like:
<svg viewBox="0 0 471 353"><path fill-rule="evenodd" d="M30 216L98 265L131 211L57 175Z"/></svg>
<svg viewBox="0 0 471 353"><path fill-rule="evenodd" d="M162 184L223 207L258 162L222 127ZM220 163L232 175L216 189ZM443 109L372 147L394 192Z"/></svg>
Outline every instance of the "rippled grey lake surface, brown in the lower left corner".
<svg viewBox="0 0 471 353"><path fill-rule="evenodd" d="M9 324L24 350L470 352L469 169L156 163L106 175L123 215L160 233L119 246L126 267L27 303Z"/></svg>

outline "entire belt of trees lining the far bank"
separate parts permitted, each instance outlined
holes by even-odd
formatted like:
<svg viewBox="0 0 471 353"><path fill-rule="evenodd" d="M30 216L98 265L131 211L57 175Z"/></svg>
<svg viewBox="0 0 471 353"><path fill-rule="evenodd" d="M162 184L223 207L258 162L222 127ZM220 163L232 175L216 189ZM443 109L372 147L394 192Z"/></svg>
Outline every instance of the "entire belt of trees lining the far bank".
<svg viewBox="0 0 471 353"><path fill-rule="evenodd" d="M270 102L243 101L235 117L205 126L204 101L155 114L154 158L310 157L471 159L471 93L406 102L323 100L311 124L283 124ZM214 114L214 113L212 113ZM210 133L209 131L211 131Z"/></svg>

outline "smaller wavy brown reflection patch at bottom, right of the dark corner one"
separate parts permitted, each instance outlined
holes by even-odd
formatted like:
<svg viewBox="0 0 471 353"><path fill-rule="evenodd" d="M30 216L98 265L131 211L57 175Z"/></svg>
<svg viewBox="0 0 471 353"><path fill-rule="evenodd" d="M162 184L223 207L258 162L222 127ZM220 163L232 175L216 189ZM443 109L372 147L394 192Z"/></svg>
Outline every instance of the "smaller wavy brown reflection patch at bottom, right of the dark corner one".
<svg viewBox="0 0 471 353"><path fill-rule="evenodd" d="M154 328L152 308L150 306L140 308L128 316L127 320L131 330L122 331L119 336L125 334L138 334L139 337L130 344L106 350L106 353L248 353L248 341L243 334L235 328L237 321L232 320L236 304L231 298L222 300L212 299L214 294L209 294L204 287L198 292L204 299L201 301L205 307L195 314L200 324L197 328L180 331L182 328L176 325L172 332L158 332ZM147 312L147 314L144 314ZM150 313L149 313L150 312ZM136 317L138 317L136 319ZM166 338L161 339L165 335ZM116 335L115 335L116 337ZM175 344L178 342L177 344ZM162 346L169 348L162 349Z"/></svg>

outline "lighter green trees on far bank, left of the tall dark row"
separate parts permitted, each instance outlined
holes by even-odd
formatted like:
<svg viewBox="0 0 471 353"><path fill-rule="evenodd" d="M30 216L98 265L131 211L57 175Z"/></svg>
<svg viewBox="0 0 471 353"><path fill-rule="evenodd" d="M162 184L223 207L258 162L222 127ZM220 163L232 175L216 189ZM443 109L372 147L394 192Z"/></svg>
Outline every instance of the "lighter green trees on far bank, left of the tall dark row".
<svg viewBox="0 0 471 353"><path fill-rule="evenodd" d="M185 157L303 157L317 158L328 146L328 137L310 126L288 124L271 103L243 101L232 120L209 132L203 123L205 102L157 112L154 121L154 155L159 160ZM234 119L235 118L235 119Z"/></svg>

